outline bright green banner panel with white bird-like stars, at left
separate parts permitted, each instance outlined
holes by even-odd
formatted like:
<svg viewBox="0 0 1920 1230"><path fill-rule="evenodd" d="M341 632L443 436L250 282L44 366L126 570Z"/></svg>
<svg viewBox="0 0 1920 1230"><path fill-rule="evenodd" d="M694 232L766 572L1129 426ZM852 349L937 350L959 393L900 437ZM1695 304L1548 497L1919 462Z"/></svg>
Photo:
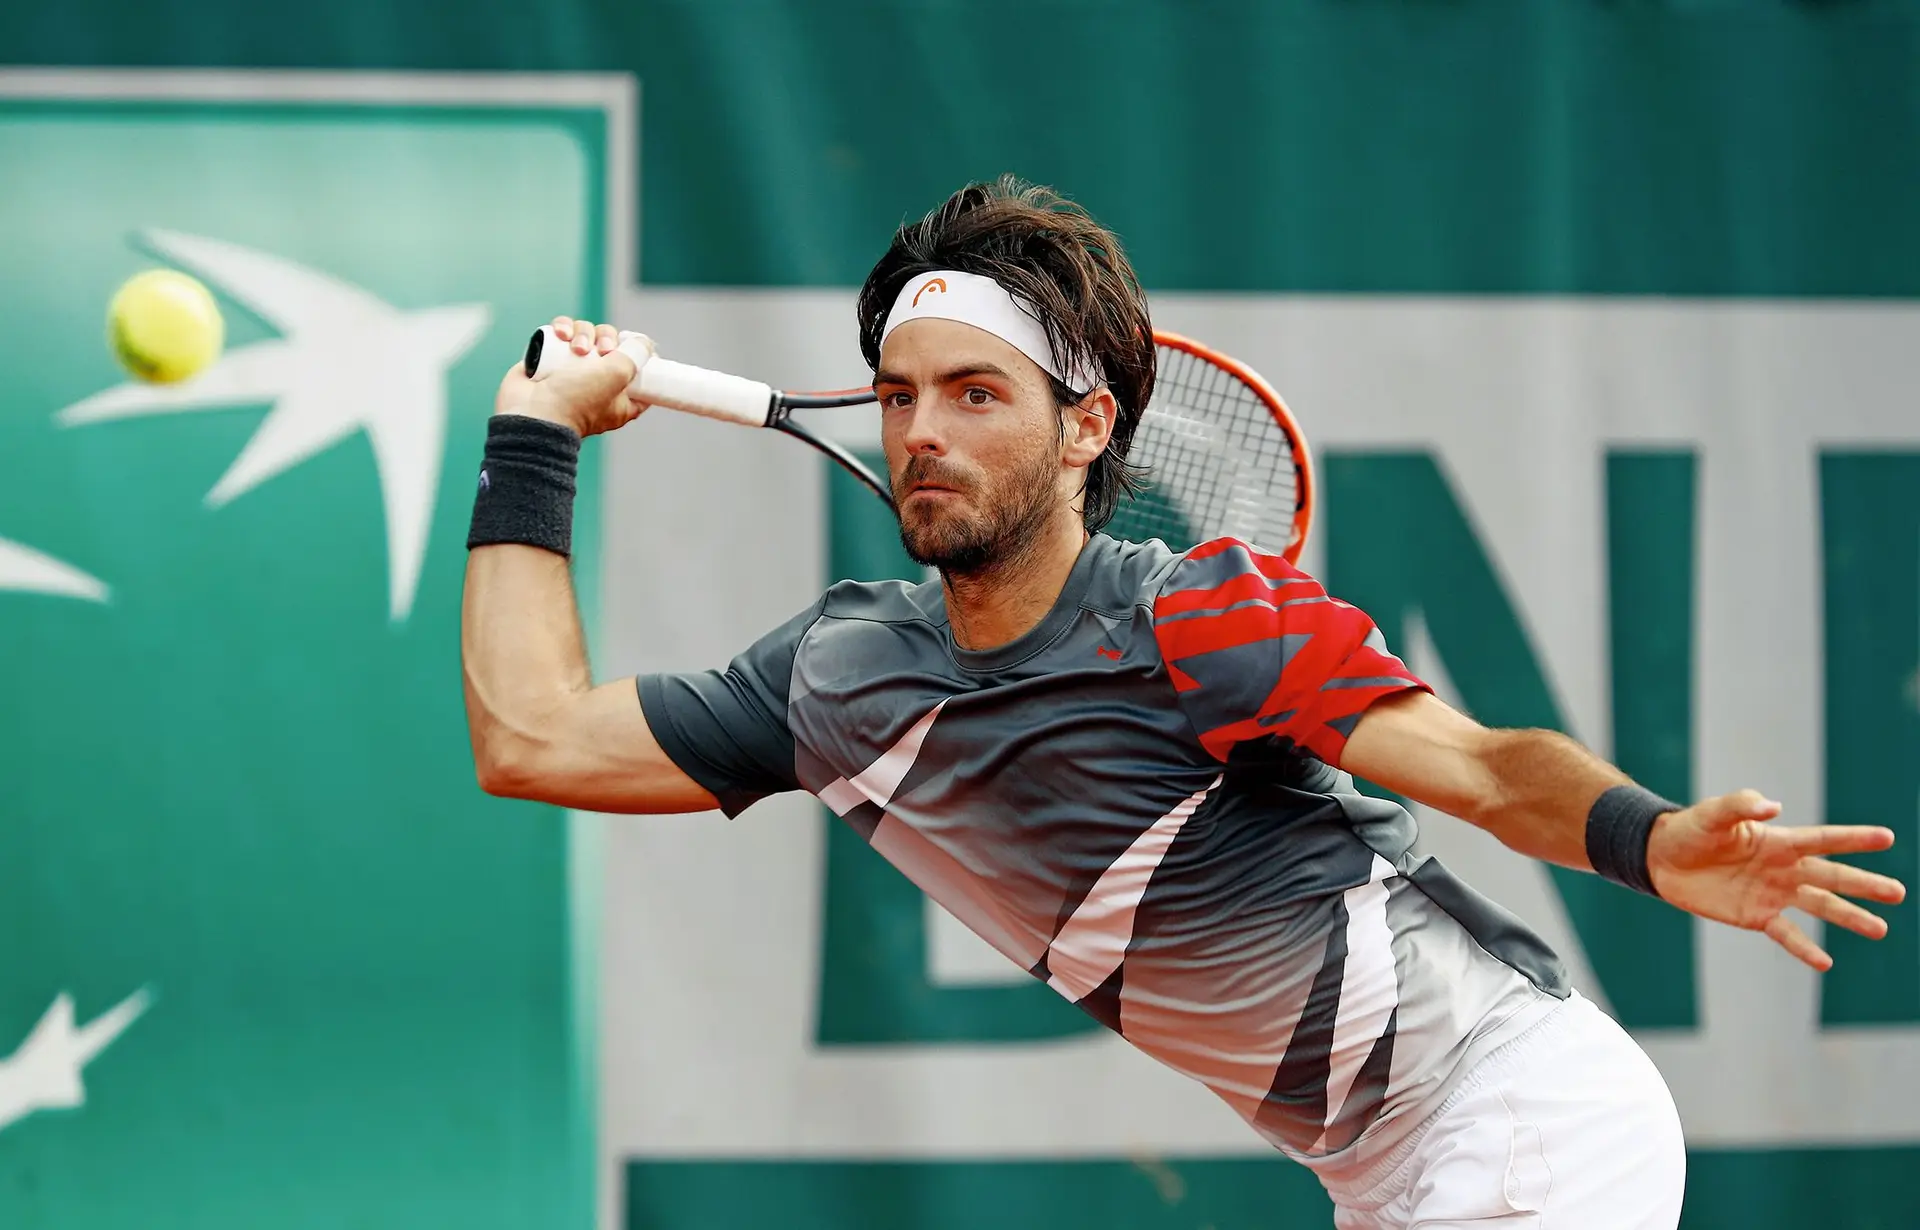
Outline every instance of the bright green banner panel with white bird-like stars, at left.
<svg viewBox="0 0 1920 1230"><path fill-rule="evenodd" d="M605 115L344 98L0 100L4 1226L589 1217L568 825L476 789L457 645ZM104 343L156 265L228 330L169 390Z"/></svg>

